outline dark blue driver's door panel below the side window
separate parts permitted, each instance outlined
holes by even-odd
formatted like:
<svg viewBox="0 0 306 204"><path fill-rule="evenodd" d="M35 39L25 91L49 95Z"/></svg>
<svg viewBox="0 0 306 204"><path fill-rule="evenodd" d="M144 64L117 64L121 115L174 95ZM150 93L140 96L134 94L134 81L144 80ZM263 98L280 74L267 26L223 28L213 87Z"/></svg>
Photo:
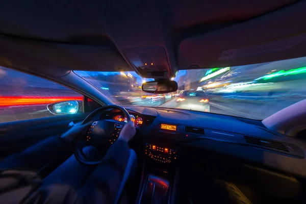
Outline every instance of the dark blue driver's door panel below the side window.
<svg viewBox="0 0 306 204"><path fill-rule="evenodd" d="M69 129L71 122L82 121L87 115L80 113L1 123L0 160L43 139L58 137Z"/></svg>

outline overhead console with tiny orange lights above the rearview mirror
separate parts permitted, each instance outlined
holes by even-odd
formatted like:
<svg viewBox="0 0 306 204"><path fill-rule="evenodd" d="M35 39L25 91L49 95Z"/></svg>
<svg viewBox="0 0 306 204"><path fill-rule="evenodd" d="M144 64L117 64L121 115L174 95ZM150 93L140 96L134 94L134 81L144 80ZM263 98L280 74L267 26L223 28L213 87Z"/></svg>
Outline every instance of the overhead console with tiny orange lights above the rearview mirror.
<svg viewBox="0 0 306 204"><path fill-rule="evenodd" d="M170 78L168 58L163 47L128 48L123 52L142 77Z"/></svg>

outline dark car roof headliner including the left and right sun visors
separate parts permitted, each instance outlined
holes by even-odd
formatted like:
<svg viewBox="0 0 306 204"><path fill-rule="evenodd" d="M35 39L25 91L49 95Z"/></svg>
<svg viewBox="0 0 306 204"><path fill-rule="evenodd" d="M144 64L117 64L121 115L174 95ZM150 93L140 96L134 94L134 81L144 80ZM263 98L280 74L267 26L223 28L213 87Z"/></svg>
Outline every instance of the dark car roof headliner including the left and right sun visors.
<svg viewBox="0 0 306 204"><path fill-rule="evenodd" d="M169 75L302 57L303 36L286 49L220 60L224 50L305 33L304 8L289 0L10 1L0 7L0 65L49 76L136 70L124 50L156 46Z"/></svg>

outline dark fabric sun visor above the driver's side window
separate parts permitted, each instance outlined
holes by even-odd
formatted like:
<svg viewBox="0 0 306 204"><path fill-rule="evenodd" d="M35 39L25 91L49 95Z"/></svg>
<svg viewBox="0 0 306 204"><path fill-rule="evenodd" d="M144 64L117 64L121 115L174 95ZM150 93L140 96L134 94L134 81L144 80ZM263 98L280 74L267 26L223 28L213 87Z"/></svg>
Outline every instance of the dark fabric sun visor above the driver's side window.
<svg viewBox="0 0 306 204"><path fill-rule="evenodd" d="M66 70L131 70L131 67L120 54L105 46L54 43L5 35L0 35L0 45L2 45L0 49L12 49L28 56L28 60L25 61L10 56L12 63L18 64L18 67L28 67L29 59L31 59L31 61L37 60L41 63L51 64L55 68L61 67ZM5 57L6 51L1 50L2 57ZM35 66L35 64L35 62L31 62L31 66ZM43 69L44 66L42 64L42 67L36 68Z"/></svg>

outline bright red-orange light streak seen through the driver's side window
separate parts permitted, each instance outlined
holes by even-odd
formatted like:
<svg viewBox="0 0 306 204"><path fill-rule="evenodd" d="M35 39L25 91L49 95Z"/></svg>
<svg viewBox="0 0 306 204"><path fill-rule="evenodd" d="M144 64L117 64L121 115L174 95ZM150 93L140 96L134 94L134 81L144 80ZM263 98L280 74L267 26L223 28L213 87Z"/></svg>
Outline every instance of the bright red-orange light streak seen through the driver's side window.
<svg viewBox="0 0 306 204"><path fill-rule="evenodd" d="M23 97L23 96L0 96L0 107L25 106L38 104L52 104L67 100L83 100L82 96L59 96L59 97Z"/></svg>

